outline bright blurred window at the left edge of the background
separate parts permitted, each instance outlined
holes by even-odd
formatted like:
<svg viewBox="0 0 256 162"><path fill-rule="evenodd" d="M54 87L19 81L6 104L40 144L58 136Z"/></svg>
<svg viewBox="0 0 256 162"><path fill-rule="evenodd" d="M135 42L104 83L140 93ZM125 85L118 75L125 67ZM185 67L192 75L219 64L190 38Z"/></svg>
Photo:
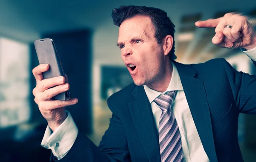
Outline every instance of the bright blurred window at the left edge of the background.
<svg viewBox="0 0 256 162"><path fill-rule="evenodd" d="M29 46L0 38L0 128L29 118Z"/></svg>

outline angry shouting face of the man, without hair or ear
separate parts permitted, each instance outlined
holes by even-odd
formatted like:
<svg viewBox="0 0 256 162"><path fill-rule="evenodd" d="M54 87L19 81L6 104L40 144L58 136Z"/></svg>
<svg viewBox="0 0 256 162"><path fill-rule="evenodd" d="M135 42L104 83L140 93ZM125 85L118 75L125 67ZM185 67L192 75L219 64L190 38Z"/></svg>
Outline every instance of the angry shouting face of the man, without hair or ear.
<svg viewBox="0 0 256 162"><path fill-rule="evenodd" d="M155 27L148 16L126 19L119 27L117 45L122 61L136 85L154 84L165 68L163 48L154 37Z"/></svg>

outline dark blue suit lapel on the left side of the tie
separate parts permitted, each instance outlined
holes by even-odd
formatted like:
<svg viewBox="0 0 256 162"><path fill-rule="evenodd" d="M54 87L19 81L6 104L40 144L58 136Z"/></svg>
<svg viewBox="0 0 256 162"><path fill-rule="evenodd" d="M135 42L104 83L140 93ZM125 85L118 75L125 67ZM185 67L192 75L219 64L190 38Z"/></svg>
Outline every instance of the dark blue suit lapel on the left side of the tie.
<svg viewBox="0 0 256 162"><path fill-rule="evenodd" d="M136 86L132 95L135 101L129 102L131 117L138 136L150 162L160 162L158 132L155 127L153 113L143 86Z"/></svg>

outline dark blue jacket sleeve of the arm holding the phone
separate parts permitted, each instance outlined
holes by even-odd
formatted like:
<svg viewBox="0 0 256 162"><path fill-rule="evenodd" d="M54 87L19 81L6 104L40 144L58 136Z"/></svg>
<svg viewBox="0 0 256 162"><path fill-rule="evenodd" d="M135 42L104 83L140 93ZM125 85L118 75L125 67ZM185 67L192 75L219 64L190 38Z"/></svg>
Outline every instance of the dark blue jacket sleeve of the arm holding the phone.
<svg viewBox="0 0 256 162"><path fill-rule="evenodd" d="M112 111L112 118L99 147L94 145L84 133L79 132L67 155L58 160L52 154L50 162L130 162L124 128L109 99L108 107Z"/></svg>

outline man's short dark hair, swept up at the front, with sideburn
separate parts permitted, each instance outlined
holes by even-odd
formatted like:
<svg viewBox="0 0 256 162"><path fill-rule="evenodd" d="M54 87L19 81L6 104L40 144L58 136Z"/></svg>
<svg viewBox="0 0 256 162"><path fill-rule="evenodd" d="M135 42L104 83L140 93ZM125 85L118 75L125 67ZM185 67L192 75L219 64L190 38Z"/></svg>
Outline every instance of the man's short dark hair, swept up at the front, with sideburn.
<svg viewBox="0 0 256 162"><path fill-rule="evenodd" d="M166 35L172 35L173 45L169 55L171 60L175 60L177 58L174 53L175 25L167 16L167 13L161 9L146 6L120 6L118 9L113 9L112 11L113 22L116 26L120 26L124 20L136 15L145 15L151 18L151 22L156 30L154 37L157 39L158 44L162 43L162 40L166 37Z"/></svg>

